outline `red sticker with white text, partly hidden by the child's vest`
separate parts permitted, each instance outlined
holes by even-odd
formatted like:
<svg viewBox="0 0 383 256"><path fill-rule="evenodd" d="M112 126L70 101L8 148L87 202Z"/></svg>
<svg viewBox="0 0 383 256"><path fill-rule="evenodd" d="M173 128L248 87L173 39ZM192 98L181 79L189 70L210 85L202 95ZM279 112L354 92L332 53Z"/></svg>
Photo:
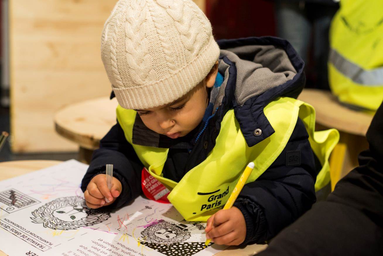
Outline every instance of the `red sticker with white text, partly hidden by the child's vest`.
<svg viewBox="0 0 383 256"><path fill-rule="evenodd" d="M160 203L170 203L167 199L167 196L170 193L170 190L167 189L161 182L159 182L155 177L144 167L141 172L141 187L144 195L150 199Z"/></svg>

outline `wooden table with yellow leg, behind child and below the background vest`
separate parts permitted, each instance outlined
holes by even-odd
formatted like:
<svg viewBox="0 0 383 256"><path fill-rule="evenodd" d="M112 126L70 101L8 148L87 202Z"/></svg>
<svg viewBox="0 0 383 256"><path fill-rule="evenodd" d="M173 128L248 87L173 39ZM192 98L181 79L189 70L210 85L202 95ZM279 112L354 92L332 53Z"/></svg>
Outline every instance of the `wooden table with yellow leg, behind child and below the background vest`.
<svg viewBox="0 0 383 256"><path fill-rule="evenodd" d="M335 181L331 184L334 189L336 181L358 166L358 154L368 148L365 135L373 115L345 107L331 92L325 90L304 89L298 99L315 108L319 130L336 128L340 133L330 162L330 169L339 169L331 177Z"/></svg>

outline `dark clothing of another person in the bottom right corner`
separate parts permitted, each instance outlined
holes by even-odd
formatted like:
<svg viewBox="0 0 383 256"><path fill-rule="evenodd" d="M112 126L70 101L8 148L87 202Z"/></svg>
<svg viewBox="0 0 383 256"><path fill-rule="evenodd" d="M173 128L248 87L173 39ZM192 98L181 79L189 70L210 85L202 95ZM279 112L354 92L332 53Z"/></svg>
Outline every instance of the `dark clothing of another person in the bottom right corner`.
<svg viewBox="0 0 383 256"><path fill-rule="evenodd" d="M360 166L257 255L383 255L383 104Z"/></svg>

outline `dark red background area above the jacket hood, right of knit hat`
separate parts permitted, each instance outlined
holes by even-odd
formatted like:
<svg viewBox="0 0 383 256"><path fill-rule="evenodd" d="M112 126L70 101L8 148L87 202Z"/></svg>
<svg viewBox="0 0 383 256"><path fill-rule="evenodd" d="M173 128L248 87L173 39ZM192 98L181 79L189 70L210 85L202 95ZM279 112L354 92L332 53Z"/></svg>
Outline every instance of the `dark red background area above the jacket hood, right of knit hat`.
<svg viewBox="0 0 383 256"><path fill-rule="evenodd" d="M215 39L275 36L274 3L265 0L206 0Z"/></svg>

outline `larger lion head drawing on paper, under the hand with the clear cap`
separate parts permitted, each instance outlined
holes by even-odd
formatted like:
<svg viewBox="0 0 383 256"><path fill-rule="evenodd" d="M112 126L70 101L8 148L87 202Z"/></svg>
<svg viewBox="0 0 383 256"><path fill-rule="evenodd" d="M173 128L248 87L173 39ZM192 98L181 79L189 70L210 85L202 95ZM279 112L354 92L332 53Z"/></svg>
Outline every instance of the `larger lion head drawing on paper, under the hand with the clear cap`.
<svg viewBox="0 0 383 256"><path fill-rule="evenodd" d="M82 197L60 197L32 212L33 223L41 223L45 228L71 230L92 226L108 220L110 213L90 210Z"/></svg>

